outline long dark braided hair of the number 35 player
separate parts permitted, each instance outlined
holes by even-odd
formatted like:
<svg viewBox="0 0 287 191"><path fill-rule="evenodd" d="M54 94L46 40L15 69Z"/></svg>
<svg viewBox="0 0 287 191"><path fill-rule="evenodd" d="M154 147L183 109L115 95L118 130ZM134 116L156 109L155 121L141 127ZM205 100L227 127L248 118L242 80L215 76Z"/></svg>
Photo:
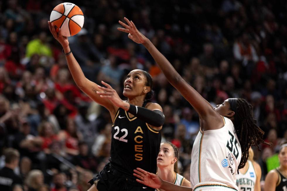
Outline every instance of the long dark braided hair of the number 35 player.
<svg viewBox="0 0 287 191"><path fill-rule="evenodd" d="M235 102L233 100L236 100ZM238 169L243 168L247 162L249 152L248 149L251 146L257 147L259 151L259 144L267 144L271 146L271 143L263 140L264 131L257 126L257 120L252 115L252 105L245 99L228 99L230 103L230 109L235 111L234 114L234 127L241 146L241 161ZM235 103L235 104L234 104ZM234 104L234 105L233 105Z"/></svg>

